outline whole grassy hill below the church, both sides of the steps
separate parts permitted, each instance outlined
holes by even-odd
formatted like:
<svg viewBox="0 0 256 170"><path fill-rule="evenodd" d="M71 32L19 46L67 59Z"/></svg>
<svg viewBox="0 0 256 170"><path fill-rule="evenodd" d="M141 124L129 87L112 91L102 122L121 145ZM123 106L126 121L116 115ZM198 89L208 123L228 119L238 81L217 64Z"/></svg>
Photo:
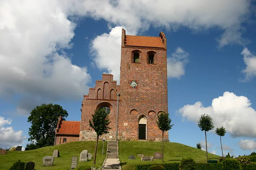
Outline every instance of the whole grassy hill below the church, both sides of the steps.
<svg viewBox="0 0 256 170"><path fill-rule="evenodd" d="M0 155L0 169L8 170L15 161L20 159L24 162L34 161L35 169L37 170L68 170L70 169L72 156L77 156L79 160L81 151L85 149L94 155L95 144L95 141L70 142L57 146L43 147L36 150L7 152L6 155ZM137 156L137 154L153 156L154 152L161 152L161 148L161 142L119 142L119 159L121 160L122 170L132 170L134 169L135 164L161 163L162 160L160 159L155 159L154 161L140 161L141 158ZM52 156L53 150L55 149L59 150L61 157L54 159L54 166L43 167L43 157ZM107 142L104 144L105 153L106 150ZM99 141L96 164L102 165L106 156L105 153L102 155L102 142ZM134 155L136 159L128 159L130 155ZM165 163L180 161L182 157L191 157L195 159L195 161L206 162L206 153L203 150L179 143L164 143ZM208 157L209 159L218 159L218 156L211 153L208 153ZM78 161L78 166L85 164L93 164L93 160L87 162Z"/></svg>

